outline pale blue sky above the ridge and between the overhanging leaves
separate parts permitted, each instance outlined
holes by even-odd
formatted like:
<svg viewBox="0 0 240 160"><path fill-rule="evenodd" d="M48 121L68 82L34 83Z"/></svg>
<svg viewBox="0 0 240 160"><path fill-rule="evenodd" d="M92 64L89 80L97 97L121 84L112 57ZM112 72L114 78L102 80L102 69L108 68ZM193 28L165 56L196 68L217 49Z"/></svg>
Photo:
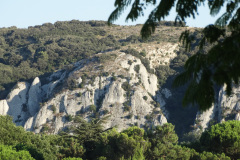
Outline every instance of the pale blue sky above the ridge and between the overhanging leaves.
<svg viewBox="0 0 240 160"><path fill-rule="evenodd" d="M1 0L0 2L0 28L16 26L27 28L28 26L54 23L56 21L70 20L105 20L114 10L115 0ZM152 6L145 10L145 16L136 22L125 22L127 11L115 22L120 25L143 24ZM174 21L176 13L171 11L166 20ZM196 19L187 19L190 27L205 27L213 24L217 17L211 17L207 6L199 9Z"/></svg>

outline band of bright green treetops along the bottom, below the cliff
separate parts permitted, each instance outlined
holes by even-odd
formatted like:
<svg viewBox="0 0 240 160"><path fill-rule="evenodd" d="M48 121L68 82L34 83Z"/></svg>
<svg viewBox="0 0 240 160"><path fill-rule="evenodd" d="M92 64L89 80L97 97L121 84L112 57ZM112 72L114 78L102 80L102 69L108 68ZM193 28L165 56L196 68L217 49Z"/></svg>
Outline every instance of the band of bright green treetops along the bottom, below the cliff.
<svg viewBox="0 0 240 160"><path fill-rule="evenodd" d="M33 134L0 116L0 158L99 160L237 160L240 157L240 122L227 121L203 132L200 140L178 143L170 123L144 131L132 126L122 132L103 130L99 120L87 123L75 117L75 126L58 135Z"/></svg>

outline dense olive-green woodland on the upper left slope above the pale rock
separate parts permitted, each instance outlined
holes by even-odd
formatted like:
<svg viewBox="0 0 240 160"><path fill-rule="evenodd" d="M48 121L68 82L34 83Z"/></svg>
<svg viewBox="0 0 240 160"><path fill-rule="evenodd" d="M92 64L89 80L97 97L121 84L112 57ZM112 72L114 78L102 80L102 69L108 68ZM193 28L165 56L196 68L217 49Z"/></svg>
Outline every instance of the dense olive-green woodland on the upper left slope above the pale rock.
<svg viewBox="0 0 240 160"><path fill-rule="evenodd" d="M120 46L103 21L70 21L0 29L0 92L67 64ZM4 98L4 97L1 97Z"/></svg>

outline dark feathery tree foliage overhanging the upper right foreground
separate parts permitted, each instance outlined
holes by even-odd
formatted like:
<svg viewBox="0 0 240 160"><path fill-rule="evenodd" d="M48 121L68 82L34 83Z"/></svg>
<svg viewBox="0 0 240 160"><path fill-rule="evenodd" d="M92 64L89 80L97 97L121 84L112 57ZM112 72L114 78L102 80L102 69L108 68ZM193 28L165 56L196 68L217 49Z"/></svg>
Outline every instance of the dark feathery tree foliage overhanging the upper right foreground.
<svg viewBox="0 0 240 160"><path fill-rule="evenodd" d="M170 10L176 6L175 23L184 25L186 18L198 13L201 5L210 9L209 15L220 15L214 25L208 25L201 31L196 54L185 63L185 71L174 81L173 86L188 83L189 87L183 99L183 105L198 104L200 110L210 108L217 96L216 88L226 84L226 92L231 94L233 83L239 83L240 77L240 1L239 0L115 0L116 9L111 13L108 23L111 24L131 5L126 20L135 21L144 14L149 5L155 8L141 29L142 38L151 36L156 25L164 20ZM194 31L191 29L182 33L180 40L187 51L192 49Z"/></svg>

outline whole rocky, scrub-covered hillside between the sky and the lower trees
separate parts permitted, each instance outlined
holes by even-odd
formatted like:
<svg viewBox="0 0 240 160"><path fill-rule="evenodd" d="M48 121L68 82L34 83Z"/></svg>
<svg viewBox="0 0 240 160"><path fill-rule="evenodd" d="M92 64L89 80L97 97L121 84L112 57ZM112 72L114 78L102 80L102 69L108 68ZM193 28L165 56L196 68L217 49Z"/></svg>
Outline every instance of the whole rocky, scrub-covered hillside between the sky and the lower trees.
<svg viewBox="0 0 240 160"><path fill-rule="evenodd" d="M182 107L185 86L171 84L194 54L178 42L186 27L162 22L145 41L140 29L102 21L0 29L0 114L26 130L53 134L75 125L76 117L104 120L105 129L118 131L170 122L181 139L239 119L238 97L229 99L221 89L219 103L207 112ZM194 50L201 29L188 29L195 31Z"/></svg>

